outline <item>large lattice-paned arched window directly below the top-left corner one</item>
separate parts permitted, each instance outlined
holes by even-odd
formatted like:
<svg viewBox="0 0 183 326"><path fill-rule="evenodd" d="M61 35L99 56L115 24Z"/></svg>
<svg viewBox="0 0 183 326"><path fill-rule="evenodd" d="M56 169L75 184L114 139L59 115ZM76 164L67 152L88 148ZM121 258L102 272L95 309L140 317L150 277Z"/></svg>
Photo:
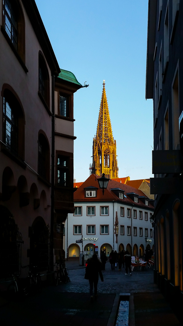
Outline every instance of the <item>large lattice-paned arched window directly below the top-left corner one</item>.
<svg viewBox="0 0 183 326"><path fill-rule="evenodd" d="M3 92L3 142L14 155L24 159L25 121L22 107L9 90Z"/></svg>

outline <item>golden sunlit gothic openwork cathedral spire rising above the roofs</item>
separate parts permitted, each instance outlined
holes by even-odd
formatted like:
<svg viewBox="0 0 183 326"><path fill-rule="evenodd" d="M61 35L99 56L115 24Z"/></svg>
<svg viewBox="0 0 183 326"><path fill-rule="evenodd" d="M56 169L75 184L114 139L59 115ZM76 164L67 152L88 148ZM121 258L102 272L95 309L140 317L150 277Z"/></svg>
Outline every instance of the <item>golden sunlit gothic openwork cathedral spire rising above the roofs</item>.
<svg viewBox="0 0 183 326"><path fill-rule="evenodd" d="M118 178L116 141L112 136L105 83L103 83L97 133L96 137L93 138L92 173L101 176L102 173L105 173L106 178L109 179Z"/></svg>

